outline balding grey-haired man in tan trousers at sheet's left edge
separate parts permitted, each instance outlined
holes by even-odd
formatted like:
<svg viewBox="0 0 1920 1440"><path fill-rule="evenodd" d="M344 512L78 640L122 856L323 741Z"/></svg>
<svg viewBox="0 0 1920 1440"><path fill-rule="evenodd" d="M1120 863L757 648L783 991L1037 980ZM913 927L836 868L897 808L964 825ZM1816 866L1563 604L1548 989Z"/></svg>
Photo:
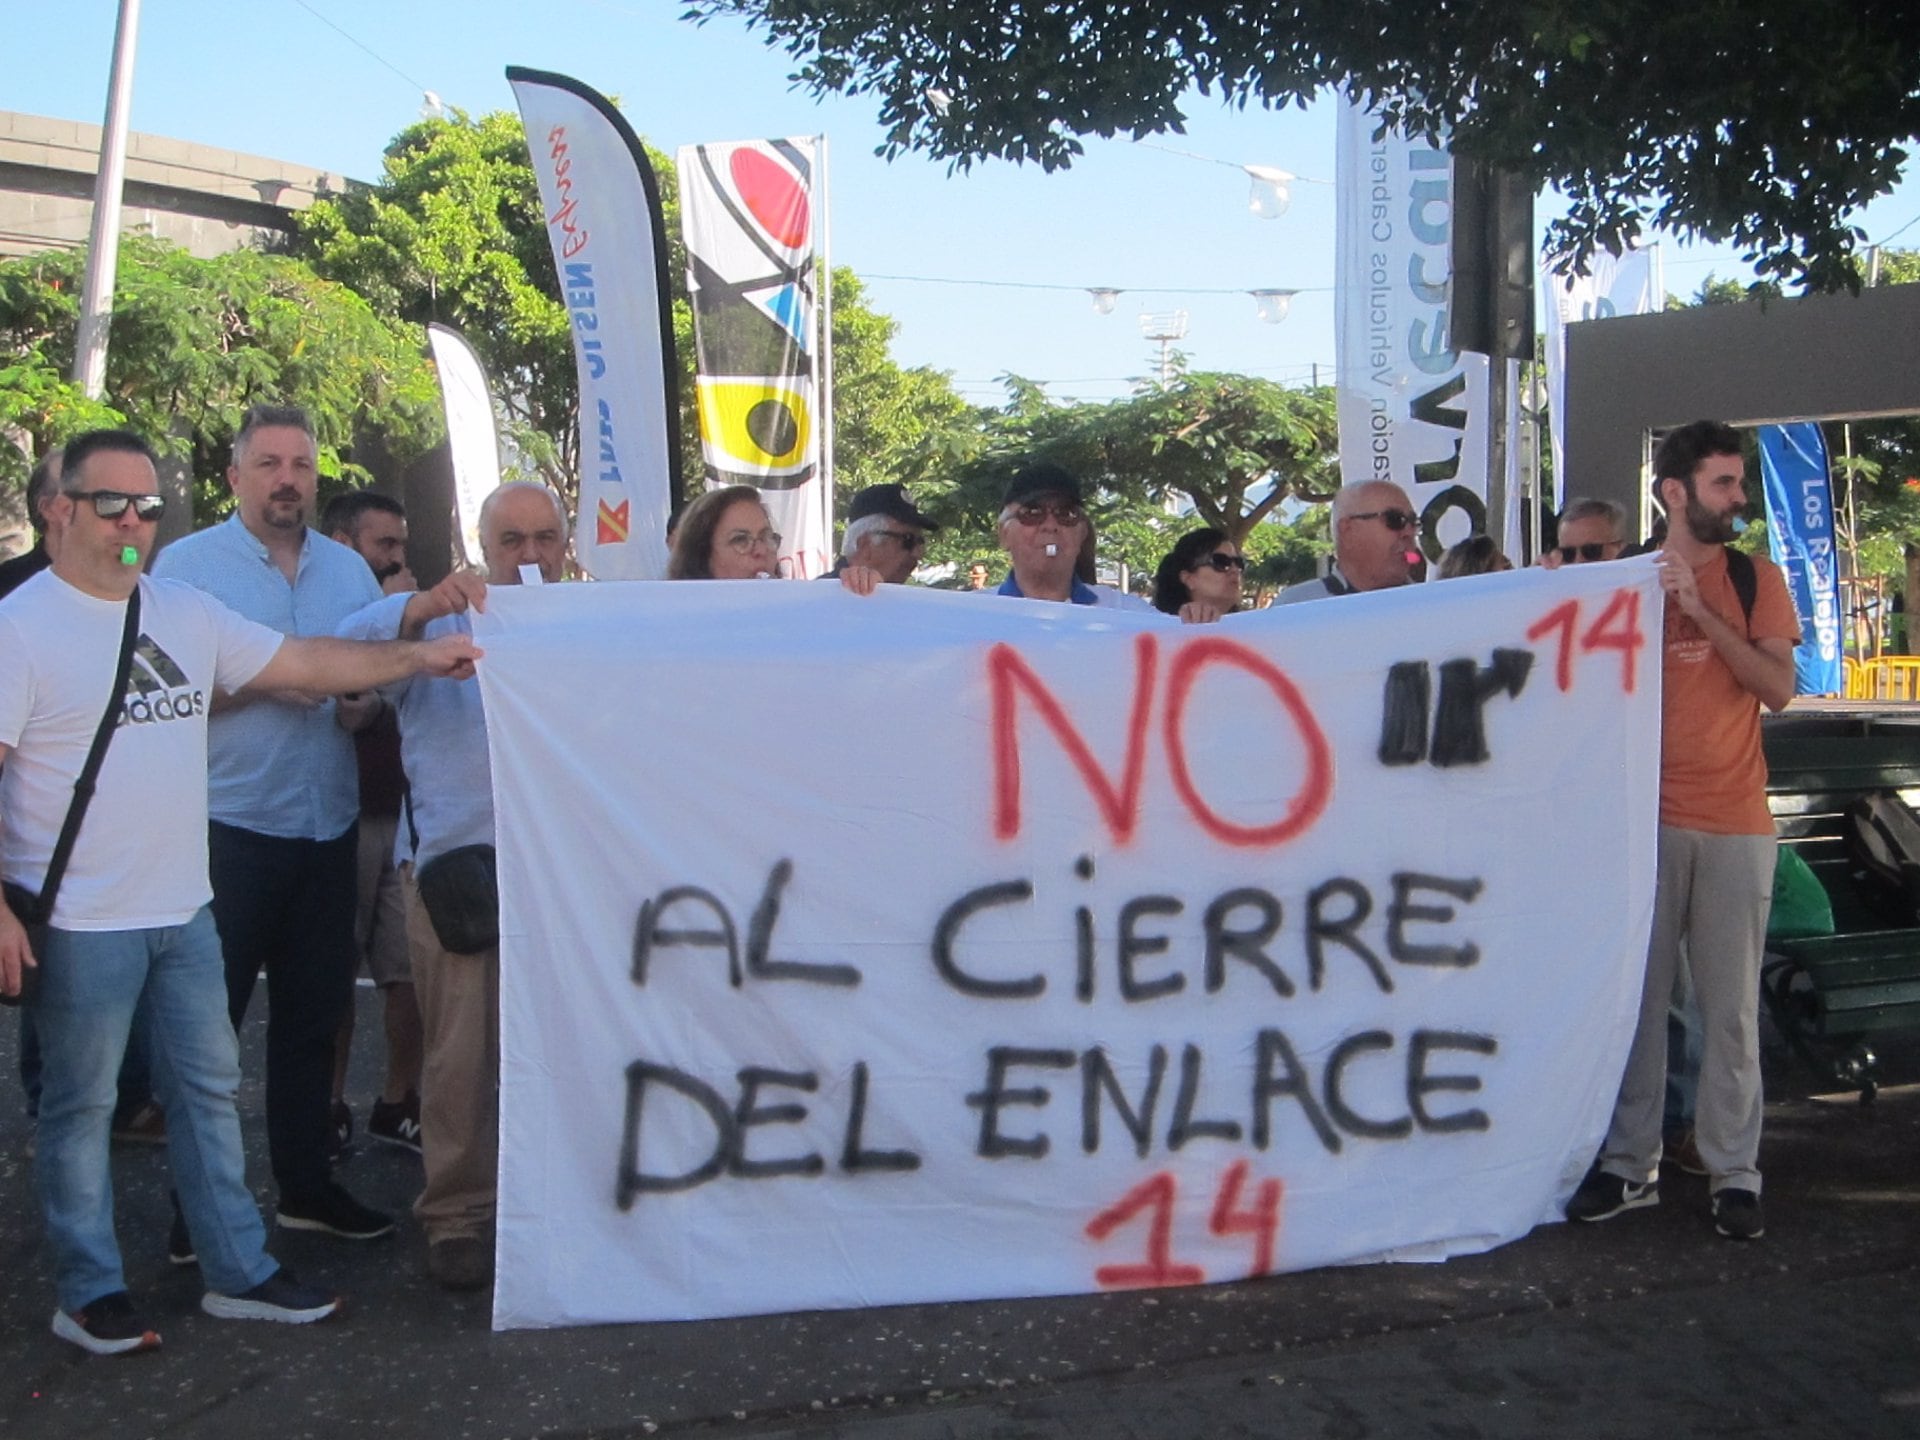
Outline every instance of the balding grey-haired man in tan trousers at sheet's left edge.
<svg viewBox="0 0 1920 1440"><path fill-rule="evenodd" d="M390 595L340 628L349 639L436 639L472 634L468 611L488 586L518 586L534 566L543 584L566 564L566 509L540 484L515 480L480 505L486 578L455 572L417 595ZM499 931L459 937L440 904L440 876L461 874L480 908L493 891L493 781L486 710L476 685L430 680L390 689L407 770L413 862L407 948L420 1002L420 1152L426 1188L413 1206L426 1231L426 1269L447 1290L493 1279L493 1206L499 1169ZM472 889L476 887L476 889ZM424 899L422 899L424 897ZM468 906L467 918L472 916ZM472 948L478 943L478 948ZM457 947L457 948L455 948Z"/></svg>

